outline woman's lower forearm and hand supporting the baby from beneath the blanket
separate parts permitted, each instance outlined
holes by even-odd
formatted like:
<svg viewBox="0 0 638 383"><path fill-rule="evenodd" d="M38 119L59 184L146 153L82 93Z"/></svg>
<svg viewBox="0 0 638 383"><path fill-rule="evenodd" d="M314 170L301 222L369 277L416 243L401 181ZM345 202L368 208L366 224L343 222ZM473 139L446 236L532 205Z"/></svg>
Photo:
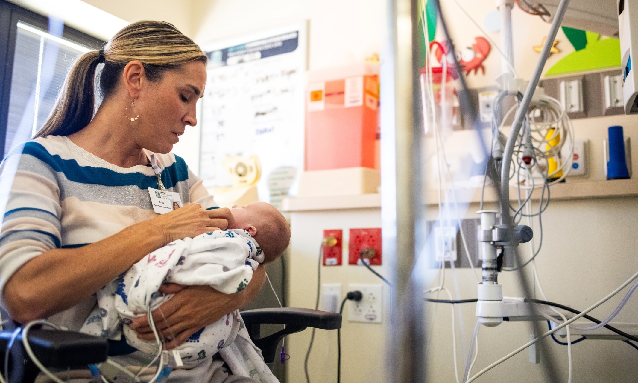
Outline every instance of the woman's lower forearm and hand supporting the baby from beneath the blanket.
<svg viewBox="0 0 638 383"><path fill-rule="evenodd" d="M241 309L258 295L266 280L263 265L253 272L253 278L245 289L235 294L224 294L209 286L179 286L168 284L160 291L175 294L152 313L156 328L165 338L173 339L166 349L181 345L200 328L219 321L221 317ZM154 340L155 336L146 316L136 319L131 329L138 338Z"/></svg>

